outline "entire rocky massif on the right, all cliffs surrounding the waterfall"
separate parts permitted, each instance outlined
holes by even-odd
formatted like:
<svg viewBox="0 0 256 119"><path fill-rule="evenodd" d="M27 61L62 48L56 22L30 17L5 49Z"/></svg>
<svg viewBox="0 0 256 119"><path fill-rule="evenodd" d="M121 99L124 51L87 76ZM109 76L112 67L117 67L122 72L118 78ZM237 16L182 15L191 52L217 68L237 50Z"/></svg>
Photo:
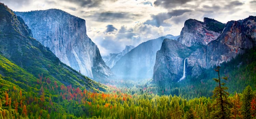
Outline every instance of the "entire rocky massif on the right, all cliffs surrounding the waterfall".
<svg viewBox="0 0 256 119"><path fill-rule="evenodd" d="M204 19L207 19L205 21L209 20L208 18ZM194 21L187 20L183 30L187 29L185 27L190 26ZM217 21L214 23L220 24ZM190 30L181 31L179 44L173 44L172 40L165 40L156 55L154 81L178 81L183 74L185 58L187 58L185 73L192 77L198 77L203 70L228 62L238 54L243 54L246 49L251 49L256 45L256 17L254 16L239 21L229 21L223 30L218 25L215 26L217 27L207 27L207 23L205 26L197 24L194 28L190 26ZM207 32L201 32L202 29ZM221 34L219 34L220 32ZM204 42L203 39L207 37L211 41ZM173 52L174 47L181 45L186 47Z"/></svg>

